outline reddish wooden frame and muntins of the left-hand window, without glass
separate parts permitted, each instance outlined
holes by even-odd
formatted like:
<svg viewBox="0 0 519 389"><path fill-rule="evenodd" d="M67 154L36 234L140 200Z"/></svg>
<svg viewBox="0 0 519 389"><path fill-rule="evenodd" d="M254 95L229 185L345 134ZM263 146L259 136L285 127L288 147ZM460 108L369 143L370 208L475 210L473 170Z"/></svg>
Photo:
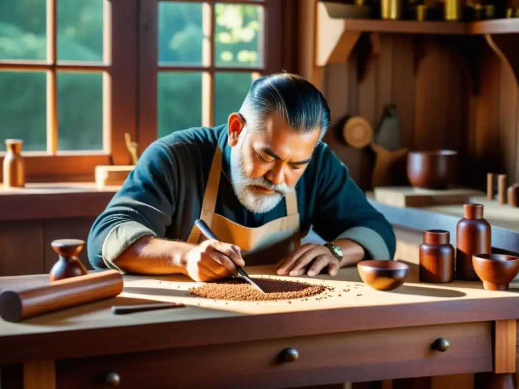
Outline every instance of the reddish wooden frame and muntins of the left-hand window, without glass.
<svg viewBox="0 0 519 389"><path fill-rule="evenodd" d="M103 1L103 63L57 61L57 1L47 0L47 60L0 60L0 71L47 72L47 150L22 148L27 182L93 181L96 165L130 163L124 133L133 138L136 132L136 114L128 112L137 104L138 0ZM103 150L57 150L57 71L103 72ZM4 156L0 152L0 162Z"/></svg>

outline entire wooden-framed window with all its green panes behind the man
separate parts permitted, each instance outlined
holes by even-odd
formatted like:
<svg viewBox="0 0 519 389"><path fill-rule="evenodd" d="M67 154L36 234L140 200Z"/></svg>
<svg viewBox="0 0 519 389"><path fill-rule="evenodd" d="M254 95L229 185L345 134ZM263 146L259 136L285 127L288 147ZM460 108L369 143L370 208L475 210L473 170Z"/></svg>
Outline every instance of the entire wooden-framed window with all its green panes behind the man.
<svg viewBox="0 0 519 389"><path fill-rule="evenodd" d="M255 77L282 70L265 50L280 3L1 2L0 158L21 138L29 180L91 180L95 165L130 162L126 132L142 152L224 123Z"/></svg>

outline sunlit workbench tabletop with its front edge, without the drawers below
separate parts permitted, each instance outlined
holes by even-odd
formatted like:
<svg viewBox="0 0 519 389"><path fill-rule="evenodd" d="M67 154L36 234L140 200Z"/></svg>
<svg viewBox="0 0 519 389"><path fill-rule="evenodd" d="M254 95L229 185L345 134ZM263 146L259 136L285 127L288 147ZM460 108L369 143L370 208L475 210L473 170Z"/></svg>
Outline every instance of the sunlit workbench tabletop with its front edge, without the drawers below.
<svg viewBox="0 0 519 389"><path fill-rule="evenodd" d="M416 253L410 250L407 255L412 255L416 263ZM406 248L400 248L400 252L405 255ZM162 349L168 345L209 345L519 317L519 294L513 285L509 291L487 291L480 282L418 283L415 263L409 263L412 271L406 284L393 292L380 292L364 285L354 267L342 269L333 278L327 275L315 279L301 277L299 280L324 283L336 290L319 301L309 298L290 303L208 300L188 295L187 289L198 284L185 276L125 276L124 292L116 298L42 315L23 323L0 322L0 362L16 362L49 353L54 357L73 357L97 355L100 350L110 354ZM272 267L246 270L252 276L291 279L272 275ZM4 277L0 283L16 288L16 284L26 287L31 282L25 277ZM347 289L349 291L343 291ZM181 302L186 308L123 316L111 313L112 305L135 304L136 301ZM427 315L417 312L427 312ZM226 331L214 337L207 331L208 325ZM105 344L106 339L111 340L110 344ZM52 349L46 344L53 344Z"/></svg>

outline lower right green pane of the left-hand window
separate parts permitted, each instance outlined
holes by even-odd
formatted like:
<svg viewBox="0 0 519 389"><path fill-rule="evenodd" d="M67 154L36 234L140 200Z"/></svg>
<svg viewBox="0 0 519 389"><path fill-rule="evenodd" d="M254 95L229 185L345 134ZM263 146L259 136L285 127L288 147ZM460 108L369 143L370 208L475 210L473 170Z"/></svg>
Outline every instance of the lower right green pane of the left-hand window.
<svg viewBox="0 0 519 389"><path fill-rule="evenodd" d="M103 75L58 72L58 150L103 149Z"/></svg>

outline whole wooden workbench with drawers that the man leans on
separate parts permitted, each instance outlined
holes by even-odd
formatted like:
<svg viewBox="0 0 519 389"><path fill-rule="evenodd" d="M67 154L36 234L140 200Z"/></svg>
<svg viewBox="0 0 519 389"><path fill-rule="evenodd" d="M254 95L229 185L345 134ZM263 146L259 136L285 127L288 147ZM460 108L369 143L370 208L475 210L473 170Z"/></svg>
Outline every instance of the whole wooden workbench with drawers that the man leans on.
<svg viewBox="0 0 519 389"><path fill-rule="evenodd" d="M415 256L414 245L399 245L400 258ZM408 282L396 291L371 289L356 268L347 268L333 279L307 281L350 291L290 303L215 302L187 296L196 284L183 276L126 276L124 292L114 299L18 324L0 319L0 363L24 364L24 389L111 387L105 381L114 375L119 387L152 389L297 387L492 371L498 374L486 376L502 378L515 372L517 290L485 291L477 282L420 284L416 259L408 262ZM273 274L270 267L247 270ZM46 275L0 278L3 288L46 282ZM187 307L121 316L110 311L142 300ZM432 350L442 338L450 348ZM288 348L299 357L280 362Z"/></svg>

